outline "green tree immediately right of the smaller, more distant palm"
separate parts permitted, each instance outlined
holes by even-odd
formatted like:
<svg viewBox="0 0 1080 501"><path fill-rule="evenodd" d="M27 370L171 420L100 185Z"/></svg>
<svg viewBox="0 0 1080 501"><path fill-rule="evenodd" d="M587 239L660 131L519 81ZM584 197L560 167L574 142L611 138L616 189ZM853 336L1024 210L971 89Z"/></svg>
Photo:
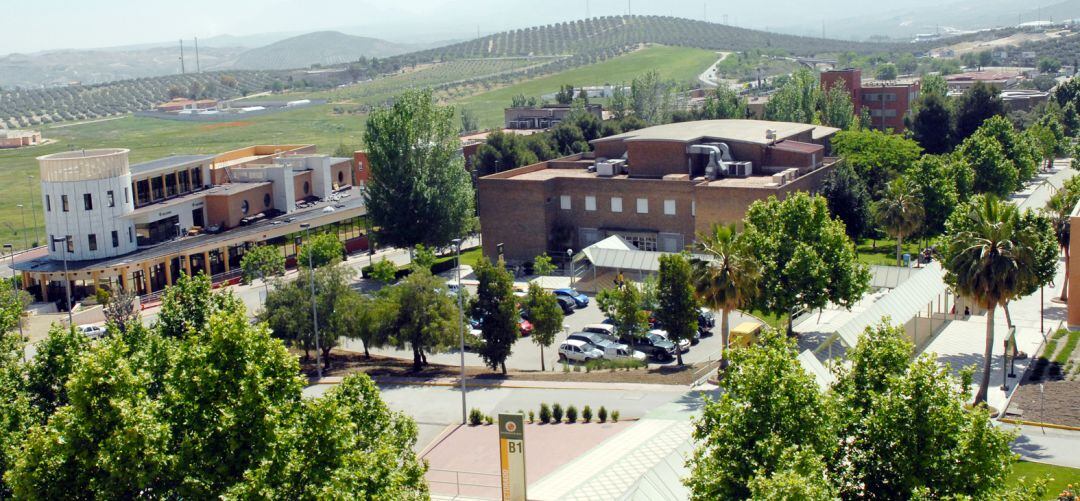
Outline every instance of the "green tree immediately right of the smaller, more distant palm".
<svg viewBox="0 0 1080 501"><path fill-rule="evenodd" d="M904 173L905 184L915 190L922 205L923 234L936 235L945 231L945 220L956 209L956 184L949 178L945 160L936 155L924 155Z"/></svg>

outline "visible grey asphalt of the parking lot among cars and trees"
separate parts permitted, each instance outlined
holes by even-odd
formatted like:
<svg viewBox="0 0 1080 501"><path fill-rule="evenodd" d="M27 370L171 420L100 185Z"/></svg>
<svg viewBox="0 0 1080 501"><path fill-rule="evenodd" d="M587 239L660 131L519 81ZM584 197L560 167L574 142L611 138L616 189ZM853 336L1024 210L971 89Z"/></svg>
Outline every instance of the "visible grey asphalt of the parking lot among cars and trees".
<svg viewBox="0 0 1080 501"><path fill-rule="evenodd" d="M475 294L475 289L472 290ZM693 364L698 362L714 361L719 358L720 354L720 313L716 314L716 326L713 328L715 335L701 338L701 342L696 346L690 347L690 351L683 354L683 362L687 364ZM566 315L563 322L563 331L555 336L555 342L543 350L543 361L544 368L546 370L562 369L562 365L558 363L558 346L562 343L566 337L576 331L580 331L585 325L598 324L605 320L604 313L596 306L596 298L590 296L589 306L585 308L580 308L576 310L572 314ZM733 328L741 322L751 320L748 315L744 315L741 312L732 312L730 319L730 325ZM342 348L363 351L363 344L359 340L342 340ZM413 352L410 350L395 350L392 348L381 348L373 349L372 353L394 356L400 358L411 360ZM434 353L428 355L428 362L435 364L445 365L458 365L460 363L459 351L455 348L448 352ZM657 361L650 360L650 366L659 365L670 365L674 364L675 361L658 363ZM465 365L481 367L484 365L484 361L476 355L476 353L465 350ZM513 352L510 357L507 358L507 368L516 370L539 370L540 369L540 347L532 342L531 337L519 338L513 348Z"/></svg>

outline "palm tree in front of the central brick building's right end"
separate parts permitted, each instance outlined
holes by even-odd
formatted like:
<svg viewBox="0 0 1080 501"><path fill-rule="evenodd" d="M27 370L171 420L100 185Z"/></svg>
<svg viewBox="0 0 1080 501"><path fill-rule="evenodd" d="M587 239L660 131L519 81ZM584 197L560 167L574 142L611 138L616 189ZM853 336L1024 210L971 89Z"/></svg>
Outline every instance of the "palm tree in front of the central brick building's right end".
<svg viewBox="0 0 1080 501"><path fill-rule="evenodd" d="M694 250L703 256L690 260L694 295L702 304L720 310L720 370L728 366L728 317L757 294L761 265L739 236L734 225L713 226L699 234Z"/></svg>

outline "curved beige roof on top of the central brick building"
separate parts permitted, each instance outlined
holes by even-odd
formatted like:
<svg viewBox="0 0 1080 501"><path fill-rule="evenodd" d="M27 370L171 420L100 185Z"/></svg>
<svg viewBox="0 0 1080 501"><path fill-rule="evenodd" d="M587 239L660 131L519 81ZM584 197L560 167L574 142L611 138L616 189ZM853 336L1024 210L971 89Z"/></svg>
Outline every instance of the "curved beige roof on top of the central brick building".
<svg viewBox="0 0 1080 501"><path fill-rule="evenodd" d="M610 140L670 140L692 143L705 137L720 140L768 145L766 131L777 131L777 139L785 139L796 134L813 131L813 137L824 137L839 132L839 128L806 123L768 122L765 120L700 120L697 122L669 123L631 131L615 136L595 139L593 143Z"/></svg>

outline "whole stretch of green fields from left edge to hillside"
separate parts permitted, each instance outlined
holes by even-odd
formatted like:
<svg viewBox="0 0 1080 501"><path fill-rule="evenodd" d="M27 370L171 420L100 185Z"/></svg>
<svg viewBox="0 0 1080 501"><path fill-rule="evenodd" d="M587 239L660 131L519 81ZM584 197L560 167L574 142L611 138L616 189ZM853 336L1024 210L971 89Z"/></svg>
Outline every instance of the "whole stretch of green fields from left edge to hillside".
<svg viewBox="0 0 1080 501"><path fill-rule="evenodd" d="M698 49L650 46L596 65L494 91L483 92L483 86L468 86L474 95L448 97L451 104L476 112L482 118L483 125L498 126L502 123L502 109L510 105L510 97L516 94L540 95L554 92L563 83L580 85L627 82L649 69L657 69L665 77L679 81L689 81L713 64L716 57L711 51ZM427 72L420 70L419 75L408 77L407 81L433 85L438 83L440 78L460 79L470 69L491 72L521 68L525 60L517 58L435 65ZM319 147L320 152L332 153L340 144L350 147L360 147L362 144L366 114L351 110L342 103L350 99L370 103L370 99L389 97L393 89L401 91L405 87L406 77L382 80L386 81L374 81L378 83L370 94L365 94L367 91L361 89L342 89L339 95L325 96L333 97L336 103L237 122L201 123L123 117L94 123L44 126L41 128L42 137L55 140L54 144L0 151L0 186L4 189L3 197L0 197L0 243L12 243L17 248L24 246L23 234L19 232L24 222L17 204L26 206L25 226L33 227L33 215L29 211L31 198L35 209L39 213L38 228L36 232L33 228L27 231L26 241L32 244L35 240L44 239L39 186L27 179L29 175L37 176L36 157L76 148L129 148L132 150L131 162L136 163L170 154L218 153L255 144L313 144Z"/></svg>

